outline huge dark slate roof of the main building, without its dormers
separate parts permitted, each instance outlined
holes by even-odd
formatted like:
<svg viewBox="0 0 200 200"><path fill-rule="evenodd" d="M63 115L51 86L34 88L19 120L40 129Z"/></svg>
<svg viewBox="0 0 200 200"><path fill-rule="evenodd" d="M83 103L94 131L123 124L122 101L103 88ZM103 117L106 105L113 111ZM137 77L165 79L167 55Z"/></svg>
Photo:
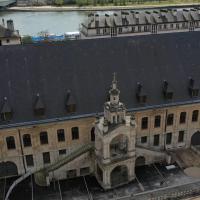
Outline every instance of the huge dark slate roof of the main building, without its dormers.
<svg viewBox="0 0 200 200"><path fill-rule="evenodd" d="M200 101L188 92L189 77L200 87L199 52L200 32L2 46L0 102L7 97L12 107L10 125L39 120L33 112L38 93L44 119L94 115L103 111L113 72L128 109ZM171 101L163 97L163 80L173 89ZM137 82L145 88L146 104L137 101ZM77 109L73 115L65 108L69 90ZM0 121L1 127L5 123Z"/></svg>

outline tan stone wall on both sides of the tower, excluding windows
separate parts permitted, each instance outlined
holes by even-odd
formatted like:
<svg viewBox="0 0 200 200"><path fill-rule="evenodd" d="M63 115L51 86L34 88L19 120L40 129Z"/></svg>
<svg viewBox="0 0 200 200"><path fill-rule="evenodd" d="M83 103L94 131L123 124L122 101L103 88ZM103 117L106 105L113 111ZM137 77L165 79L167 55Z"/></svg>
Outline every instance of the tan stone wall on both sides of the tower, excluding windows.
<svg viewBox="0 0 200 200"><path fill-rule="evenodd" d="M176 149L187 148L190 146L192 135L200 130L200 116L197 122L192 122L193 110L200 111L200 104L174 106L162 109L149 109L145 111L134 112L135 120L137 124L136 129L136 146L149 148L152 150L163 149ZM186 123L180 124L179 117L181 112L186 112ZM166 115L174 114L174 123L171 126L166 126ZM200 113L199 113L200 114ZM154 118L156 115L161 115L161 125L159 128L154 128ZM148 117L148 128L141 128L141 120L143 117ZM43 152L50 152L51 163L56 162L59 159L58 151L66 149L67 153L70 153L78 146L91 142L91 129L94 127L95 118L83 118L77 120L69 120L64 122L49 123L36 126L19 127L0 130L0 163L6 161L12 161L17 165L18 173L23 174L25 170L41 169L45 165L43 164ZM79 127L79 139L72 140L71 128ZM65 130L65 142L58 142L57 130ZM48 144L40 144L40 132L47 131ZM178 142L179 131L184 131L184 141ZM166 133L172 133L172 142L166 145ZM22 137L24 134L30 134L32 140L32 147L24 147ZM158 146L153 145L154 135L160 135L160 142ZM6 145L6 137L14 136L16 149L8 150ZM141 137L147 137L145 143L141 143ZM21 143L20 143L21 137ZM33 155L34 167L28 168L26 166L25 155ZM137 155L136 155L137 157ZM61 167L55 171L56 177L66 177L68 170L75 169L77 175L80 175L80 168L90 167L90 172L93 172L94 162L91 159L90 154L85 154L75 159L73 162Z"/></svg>

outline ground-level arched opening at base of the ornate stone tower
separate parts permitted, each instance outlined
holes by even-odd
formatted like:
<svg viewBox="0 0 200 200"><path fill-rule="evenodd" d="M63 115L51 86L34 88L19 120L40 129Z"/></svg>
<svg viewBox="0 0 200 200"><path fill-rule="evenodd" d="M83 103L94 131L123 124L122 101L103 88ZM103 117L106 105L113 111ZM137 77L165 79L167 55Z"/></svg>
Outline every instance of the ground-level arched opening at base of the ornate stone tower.
<svg viewBox="0 0 200 200"><path fill-rule="evenodd" d="M110 174L111 186L118 186L128 182L128 169L127 166L121 165L115 167Z"/></svg>

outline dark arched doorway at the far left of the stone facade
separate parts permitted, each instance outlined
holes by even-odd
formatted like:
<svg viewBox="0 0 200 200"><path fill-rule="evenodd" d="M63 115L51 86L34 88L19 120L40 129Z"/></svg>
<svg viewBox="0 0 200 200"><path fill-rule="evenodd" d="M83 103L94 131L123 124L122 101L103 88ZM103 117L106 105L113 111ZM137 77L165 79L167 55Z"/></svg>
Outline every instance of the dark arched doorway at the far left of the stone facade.
<svg viewBox="0 0 200 200"><path fill-rule="evenodd" d="M15 163L10 161L0 163L0 177L16 175L18 175L18 170Z"/></svg>

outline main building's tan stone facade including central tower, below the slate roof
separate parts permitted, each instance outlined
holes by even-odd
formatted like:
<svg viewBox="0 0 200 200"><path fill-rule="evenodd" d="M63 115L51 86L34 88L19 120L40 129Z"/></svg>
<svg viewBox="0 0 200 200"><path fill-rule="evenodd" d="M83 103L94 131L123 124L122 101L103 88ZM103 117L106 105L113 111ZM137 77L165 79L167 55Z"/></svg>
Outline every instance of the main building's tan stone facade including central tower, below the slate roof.
<svg viewBox="0 0 200 200"><path fill-rule="evenodd" d="M200 131L199 103L126 113L119 94L114 78L102 117L1 129L0 169L11 167L10 163L17 167L16 173L1 173L1 177L38 171L92 142L93 153L82 154L49 173L49 178L94 174L101 186L109 189L132 181L135 166L169 163L167 151L190 147L193 134Z"/></svg>

